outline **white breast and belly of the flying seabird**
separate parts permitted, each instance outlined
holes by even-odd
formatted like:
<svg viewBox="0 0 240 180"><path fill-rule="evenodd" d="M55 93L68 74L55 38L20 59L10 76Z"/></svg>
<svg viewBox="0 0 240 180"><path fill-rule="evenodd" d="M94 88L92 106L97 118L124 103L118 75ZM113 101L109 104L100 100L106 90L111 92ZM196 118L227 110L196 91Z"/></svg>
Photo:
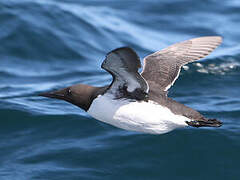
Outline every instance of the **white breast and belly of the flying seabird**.
<svg viewBox="0 0 240 180"><path fill-rule="evenodd" d="M187 126L190 119L173 114L153 102L113 100L111 94L97 97L87 111L92 117L113 126L151 134L162 134Z"/></svg>

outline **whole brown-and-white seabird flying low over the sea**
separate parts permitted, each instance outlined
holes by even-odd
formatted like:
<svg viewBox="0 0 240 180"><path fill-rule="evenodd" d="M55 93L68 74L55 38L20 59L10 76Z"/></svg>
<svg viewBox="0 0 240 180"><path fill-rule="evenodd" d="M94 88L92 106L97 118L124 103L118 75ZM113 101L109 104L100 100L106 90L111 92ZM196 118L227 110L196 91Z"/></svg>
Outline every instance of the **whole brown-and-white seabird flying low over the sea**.
<svg viewBox="0 0 240 180"><path fill-rule="evenodd" d="M183 65L207 56L221 42L219 36L207 36L176 43L146 56L141 73L136 52L118 48L101 65L113 77L110 85L77 84L40 96L68 101L95 119L126 130L162 134L185 126L220 127L220 121L174 101L167 92Z"/></svg>

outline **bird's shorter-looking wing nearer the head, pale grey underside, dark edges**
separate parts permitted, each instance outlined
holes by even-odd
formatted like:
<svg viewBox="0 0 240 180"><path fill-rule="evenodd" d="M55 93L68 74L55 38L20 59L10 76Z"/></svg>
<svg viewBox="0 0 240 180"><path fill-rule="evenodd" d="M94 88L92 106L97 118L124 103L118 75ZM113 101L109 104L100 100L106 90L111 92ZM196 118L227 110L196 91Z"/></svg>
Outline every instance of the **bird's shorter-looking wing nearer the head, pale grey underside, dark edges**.
<svg viewBox="0 0 240 180"><path fill-rule="evenodd" d="M134 50L122 47L111 51L101 67L113 76L108 92L113 93L116 98L145 99L149 88L138 73L141 62Z"/></svg>

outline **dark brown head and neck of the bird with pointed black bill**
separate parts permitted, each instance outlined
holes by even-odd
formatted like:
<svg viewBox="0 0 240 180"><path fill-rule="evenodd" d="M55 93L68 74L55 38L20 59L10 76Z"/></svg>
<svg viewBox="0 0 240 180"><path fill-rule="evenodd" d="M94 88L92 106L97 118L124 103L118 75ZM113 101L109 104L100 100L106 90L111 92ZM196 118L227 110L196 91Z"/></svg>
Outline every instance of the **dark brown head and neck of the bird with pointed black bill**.
<svg viewBox="0 0 240 180"><path fill-rule="evenodd" d="M106 91L107 87L93 87L77 84L57 91L39 94L40 96L65 100L87 111L92 101Z"/></svg>

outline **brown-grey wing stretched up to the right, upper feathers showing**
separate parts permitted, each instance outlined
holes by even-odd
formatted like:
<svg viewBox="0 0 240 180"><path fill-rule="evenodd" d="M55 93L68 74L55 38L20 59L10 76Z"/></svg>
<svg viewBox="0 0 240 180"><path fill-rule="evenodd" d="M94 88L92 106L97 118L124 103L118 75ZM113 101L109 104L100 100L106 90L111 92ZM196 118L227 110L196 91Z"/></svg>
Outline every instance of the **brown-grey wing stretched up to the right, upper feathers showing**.
<svg viewBox="0 0 240 180"><path fill-rule="evenodd" d="M176 43L145 57L141 75L150 91L166 92L178 78L183 65L207 56L221 42L220 36L206 36Z"/></svg>

